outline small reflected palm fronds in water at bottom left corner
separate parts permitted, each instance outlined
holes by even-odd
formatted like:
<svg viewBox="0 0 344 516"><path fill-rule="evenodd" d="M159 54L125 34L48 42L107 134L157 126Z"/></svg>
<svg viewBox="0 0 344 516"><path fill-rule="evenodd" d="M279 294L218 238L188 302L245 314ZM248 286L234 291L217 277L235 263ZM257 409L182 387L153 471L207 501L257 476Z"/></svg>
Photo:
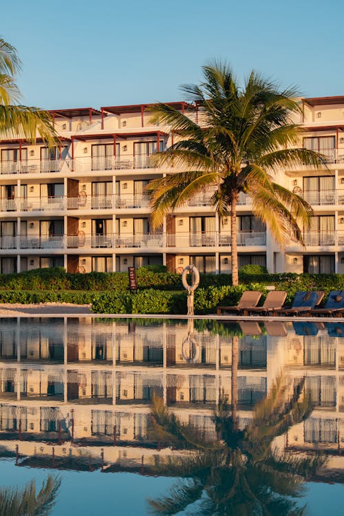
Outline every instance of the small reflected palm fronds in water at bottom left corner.
<svg viewBox="0 0 344 516"><path fill-rule="evenodd" d="M61 479L47 476L41 490L36 493L36 482L32 480L23 489L2 488L0 490L0 516L47 516L56 502Z"/></svg>

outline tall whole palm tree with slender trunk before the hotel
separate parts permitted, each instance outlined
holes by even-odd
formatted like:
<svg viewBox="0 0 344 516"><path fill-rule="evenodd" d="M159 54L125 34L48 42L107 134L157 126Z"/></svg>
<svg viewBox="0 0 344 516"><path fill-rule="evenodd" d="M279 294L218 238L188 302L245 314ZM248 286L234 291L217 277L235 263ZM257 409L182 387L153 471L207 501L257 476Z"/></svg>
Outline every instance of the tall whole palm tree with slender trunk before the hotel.
<svg viewBox="0 0 344 516"><path fill-rule="evenodd" d="M254 215L282 248L287 238L303 244L300 226L309 226L312 209L273 179L282 169L305 164L319 167L325 157L297 148L301 128L293 121L300 112L294 88L282 90L255 72L240 87L230 67L216 61L204 66L203 74L199 86L182 87L187 100L199 108L197 122L171 105L153 107L152 121L169 125L178 138L158 154L157 162L180 171L149 184L152 225L160 227L168 213L207 186L215 186L215 211L220 217L230 216L236 286L239 193L250 195Z"/></svg>

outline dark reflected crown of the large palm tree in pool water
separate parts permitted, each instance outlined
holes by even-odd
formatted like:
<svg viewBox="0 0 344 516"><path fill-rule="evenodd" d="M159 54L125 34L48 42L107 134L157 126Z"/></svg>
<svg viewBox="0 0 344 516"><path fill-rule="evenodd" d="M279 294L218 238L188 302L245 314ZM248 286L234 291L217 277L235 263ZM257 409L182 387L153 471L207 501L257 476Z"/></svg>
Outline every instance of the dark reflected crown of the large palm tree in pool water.
<svg viewBox="0 0 344 516"><path fill-rule="evenodd" d="M277 452L273 440L309 416L310 398L302 396L303 383L301 380L290 394L290 383L277 377L244 430L239 429L236 403L230 407L222 397L214 416L217 443L197 440L197 429L179 422L155 400L153 432L160 432L165 442L172 436L169 442L173 446L192 451L157 466L160 473L188 480L180 480L166 497L149 500L151 512L175 515L197 502L197 513L204 516L301 514L295 498L302 493L302 480L321 459L317 454L300 458L289 451ZM233 382L232 388L235 385ZM236 400L237 394L232 391L233 395Z"/></svg>

